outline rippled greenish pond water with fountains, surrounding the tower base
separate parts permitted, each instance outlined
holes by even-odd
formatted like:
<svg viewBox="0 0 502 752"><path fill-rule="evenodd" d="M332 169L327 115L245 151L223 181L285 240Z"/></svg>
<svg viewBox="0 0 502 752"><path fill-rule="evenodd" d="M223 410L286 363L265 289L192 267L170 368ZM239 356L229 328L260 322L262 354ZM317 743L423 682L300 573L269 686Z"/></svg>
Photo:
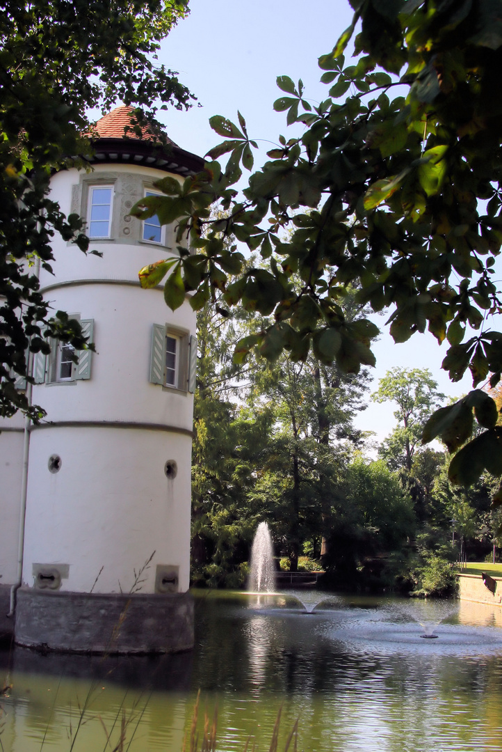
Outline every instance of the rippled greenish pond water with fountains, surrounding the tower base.
<svg viewBox="0 0 502 752"><path fill-rule="evenodd" d="M196 594L180 656L0 653L0 749L110 750L125 724L125 749L181 752L200 689L222 752L268 750L281 708L279 749L299 719L305 752L502 750L502 608L296 595Z"/></svg>

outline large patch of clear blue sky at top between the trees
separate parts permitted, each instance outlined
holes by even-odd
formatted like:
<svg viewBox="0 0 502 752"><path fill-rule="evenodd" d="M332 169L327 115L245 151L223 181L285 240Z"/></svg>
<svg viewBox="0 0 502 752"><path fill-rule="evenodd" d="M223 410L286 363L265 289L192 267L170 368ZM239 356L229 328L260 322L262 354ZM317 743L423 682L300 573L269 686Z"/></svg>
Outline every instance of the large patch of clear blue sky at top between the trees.
<svg viewBox="0 0 502 752"><path fill-rule="evenodd" d="M253 138L275 140L285 130L283 114L272 110L281 96L278 75L301 77L310 99L327 96L317 58L350 25L347 0L191 0L190 7L159 56L203 105L166 114L167 132L179 146L203 155L221 140L209 117L236 120L237 110Z"/></svg>

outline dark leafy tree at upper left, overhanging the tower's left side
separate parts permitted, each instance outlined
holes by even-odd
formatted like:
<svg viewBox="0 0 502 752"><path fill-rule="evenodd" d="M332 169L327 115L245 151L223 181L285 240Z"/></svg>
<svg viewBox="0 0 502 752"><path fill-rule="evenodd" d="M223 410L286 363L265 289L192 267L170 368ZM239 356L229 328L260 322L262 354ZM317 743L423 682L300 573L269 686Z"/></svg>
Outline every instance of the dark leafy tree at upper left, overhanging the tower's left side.
<svg viewBox="0 0 502 752"><path fill-rule="evenodd" d="M49 337L89 346L77 323L54 315L39 292L37 265L50 271L54 232L89 250L80 217L65 217L48 199L50 174L89 165L89 108L117 99L135 105L131 129L141 135L147 124L158 132L155 102L190 105L176 74L155 64L159 42L187 13L188 0L2 2L0 416L18 408L35 420L43 414L15 388L26 378L28 349L48 352Z"/></svg>

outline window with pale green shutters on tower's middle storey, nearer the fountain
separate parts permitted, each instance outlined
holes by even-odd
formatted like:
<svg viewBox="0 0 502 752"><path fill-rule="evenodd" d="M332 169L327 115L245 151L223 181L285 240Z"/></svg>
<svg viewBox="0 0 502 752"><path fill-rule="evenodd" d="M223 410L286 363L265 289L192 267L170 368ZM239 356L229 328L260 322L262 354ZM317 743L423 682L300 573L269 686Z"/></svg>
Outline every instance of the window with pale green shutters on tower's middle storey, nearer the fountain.
<svg viewBox="0 0 502 752"><path fill-rule="evenodd" d="M154 324L150 381L184 392L194 393L197 366L197 337L173 331L165 324Z"/></svg>

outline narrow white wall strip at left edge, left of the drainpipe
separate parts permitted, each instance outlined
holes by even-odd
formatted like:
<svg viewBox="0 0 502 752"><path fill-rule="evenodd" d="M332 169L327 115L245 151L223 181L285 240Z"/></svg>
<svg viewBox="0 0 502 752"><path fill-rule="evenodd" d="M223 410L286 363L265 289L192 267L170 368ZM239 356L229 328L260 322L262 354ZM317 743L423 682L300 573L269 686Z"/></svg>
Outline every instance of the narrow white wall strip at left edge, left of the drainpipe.
<svg viewBox="0 0 502 752"><path fill-rule="evenodd" d="M22 473L23 418L16 415L0 420L0 585L17 578Z"/></svg>

